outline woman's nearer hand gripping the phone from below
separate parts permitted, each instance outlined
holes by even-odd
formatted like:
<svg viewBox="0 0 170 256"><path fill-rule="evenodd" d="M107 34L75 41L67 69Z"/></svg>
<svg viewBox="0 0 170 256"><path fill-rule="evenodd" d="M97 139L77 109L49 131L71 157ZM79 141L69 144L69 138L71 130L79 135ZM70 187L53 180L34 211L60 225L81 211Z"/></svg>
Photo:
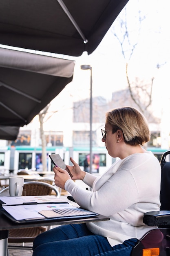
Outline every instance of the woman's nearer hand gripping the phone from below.
<svg viewBox="0 0 170 256"><path fill-rule="evenodd" d="M65 183L67 180L71 180L69 173L66 170L63 170L59 166L53 167L54 182L56 186L59 186L61 189L65 189Z"/></svg>

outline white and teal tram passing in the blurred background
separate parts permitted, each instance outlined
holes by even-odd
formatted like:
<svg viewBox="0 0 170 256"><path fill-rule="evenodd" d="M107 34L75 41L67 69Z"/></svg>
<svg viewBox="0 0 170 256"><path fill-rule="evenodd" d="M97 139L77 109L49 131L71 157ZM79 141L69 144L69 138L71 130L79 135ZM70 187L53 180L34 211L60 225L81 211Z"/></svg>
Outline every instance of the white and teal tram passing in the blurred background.
<svg viewBox="0 0 170 256"><path fill-rule="evenodd" d="M161 148L147 148L147 150L152 151L152 153L161 160L161 155L167 149ZM108 155L105 147L94 147L93 152L93 173L102 174L106 169L115 162L115 158ZM46 147L46 159L47 159L47 169L52 171L53 164L49 155L60 154L65 164L71 164L70 157L72 157L84 170L88 171L88 166L90 165L90 154L89 148L85 147ZM86 163L86 164L85 164ZM86 168L86 169L85 169ZM19 169L34 169L36 171L42 171L42 148L41 147L31 147L31 146L7 146L0 148L0 171L10 170L17 171Z"/></svg>

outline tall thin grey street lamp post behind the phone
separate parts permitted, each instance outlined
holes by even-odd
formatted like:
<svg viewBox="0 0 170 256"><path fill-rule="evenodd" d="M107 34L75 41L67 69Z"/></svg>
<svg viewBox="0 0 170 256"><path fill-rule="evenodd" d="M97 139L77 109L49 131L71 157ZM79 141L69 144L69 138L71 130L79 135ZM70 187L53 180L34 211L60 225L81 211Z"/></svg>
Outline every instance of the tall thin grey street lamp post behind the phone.
<svg viewBox="0 0 170 256"><path fill-rule="evenodd" d="M81 65L81 69L91 71L91 88L90 88L90 173L92 173L92 163L93 163L93 155L92 155L92 67L91 67L91 65Z"/></svg>

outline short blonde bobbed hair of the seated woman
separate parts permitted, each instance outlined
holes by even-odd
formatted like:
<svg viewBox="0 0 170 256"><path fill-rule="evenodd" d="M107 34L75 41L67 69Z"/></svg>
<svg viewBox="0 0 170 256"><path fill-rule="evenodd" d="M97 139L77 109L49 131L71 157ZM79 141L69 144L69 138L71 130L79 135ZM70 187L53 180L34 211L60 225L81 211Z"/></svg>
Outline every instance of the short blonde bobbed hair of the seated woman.
<svg viewBox="0 0 170 256"><path fill-rule="evenodd" d="M122 130L126 144L143 145L150 140L146 118L135 108L123 107L111 110L106 113L106 123L115 130Z"/></svg>

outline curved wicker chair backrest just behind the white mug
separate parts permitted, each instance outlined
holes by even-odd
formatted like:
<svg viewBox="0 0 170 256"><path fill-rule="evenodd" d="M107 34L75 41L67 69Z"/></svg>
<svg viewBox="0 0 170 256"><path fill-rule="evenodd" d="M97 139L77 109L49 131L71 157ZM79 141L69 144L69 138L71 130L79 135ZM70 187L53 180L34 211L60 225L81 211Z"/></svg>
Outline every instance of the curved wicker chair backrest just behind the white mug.
<svg viewBox="0 0 170 256"><path fill-rule="evenodd" d="M9 187L2 189L0 191L0 194L6 194L7 192L9 193ZM52 192L55 192L57 198L60 197L59 191L55 188L55 186L49 183L39 181L27 181L24 182L22 195L51 195Z"/></svg>

